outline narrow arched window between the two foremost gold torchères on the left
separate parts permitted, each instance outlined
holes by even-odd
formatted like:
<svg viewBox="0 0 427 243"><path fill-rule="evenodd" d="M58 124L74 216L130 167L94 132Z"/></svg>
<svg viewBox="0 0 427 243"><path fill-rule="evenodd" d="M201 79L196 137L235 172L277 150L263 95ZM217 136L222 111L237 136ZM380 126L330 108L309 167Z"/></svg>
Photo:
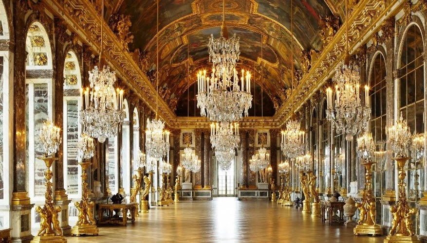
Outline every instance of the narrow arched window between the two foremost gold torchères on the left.
<svg viewBox="0 0 427 243"><path fill-rule="evenodd" d="M79 88L81 74L74 52L70 51L64 63L64 188L70 198L81 195L81 170L77 160L77 142L80 136L79 110L81 102Z"/></svg>

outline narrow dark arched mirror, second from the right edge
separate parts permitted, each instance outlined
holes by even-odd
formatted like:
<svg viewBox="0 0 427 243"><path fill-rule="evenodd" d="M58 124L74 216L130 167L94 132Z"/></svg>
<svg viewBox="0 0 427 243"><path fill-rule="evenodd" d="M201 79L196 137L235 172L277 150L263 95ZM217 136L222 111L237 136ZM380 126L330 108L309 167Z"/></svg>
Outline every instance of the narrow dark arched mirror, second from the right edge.
<svg viewBox="0 0 427 243"><path fill-rule="evenodd" d="M377 207L381 207L381 196L386 190L386 168L384 142L386 141L386 62L381 53L377 53L371 65L369 78L371 100L371 123L370 131L372 138L378 146L374 155L375 164L373 172L373 191L376 197ZM378 161L379 160L379 161ZM381 224L382 211L377 211L376 223Z"/></svg>

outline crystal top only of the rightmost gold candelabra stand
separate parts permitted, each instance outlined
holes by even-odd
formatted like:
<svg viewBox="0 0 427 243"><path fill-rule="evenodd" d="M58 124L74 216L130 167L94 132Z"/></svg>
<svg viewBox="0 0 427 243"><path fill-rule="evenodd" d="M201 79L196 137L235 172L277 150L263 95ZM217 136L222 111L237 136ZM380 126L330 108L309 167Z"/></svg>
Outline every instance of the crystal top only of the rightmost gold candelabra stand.
<svg viewBox="0 0 427 243"><path fill-rule="evenodd" d="M399 121L395 121L393 126L388 129L388 144L396 156L406 156L410 142L410 129L408 122L403 120L402 112Z"/></svg>

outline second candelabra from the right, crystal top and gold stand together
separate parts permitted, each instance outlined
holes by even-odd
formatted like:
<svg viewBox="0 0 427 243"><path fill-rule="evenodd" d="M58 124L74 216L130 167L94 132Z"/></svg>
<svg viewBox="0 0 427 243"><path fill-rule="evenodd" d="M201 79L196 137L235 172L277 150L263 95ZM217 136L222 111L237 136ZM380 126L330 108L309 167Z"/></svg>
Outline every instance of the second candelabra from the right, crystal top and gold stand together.
<svg viewBox="0 0 427 243"><path fill-rule="evenodd" d="M375 224L376 216L376 202L372 192L372 165L376 162L371 160L372 154L375 151L375 142L372 139L372 134L364 132L357 139L358 155L364 161L362 164L365 166L365 189L363 190L363 197L361 203L356 203L356 208L359 209L359 221L353 229L355 235L371 234L382 235L382 228L380 225Z"/></svg>

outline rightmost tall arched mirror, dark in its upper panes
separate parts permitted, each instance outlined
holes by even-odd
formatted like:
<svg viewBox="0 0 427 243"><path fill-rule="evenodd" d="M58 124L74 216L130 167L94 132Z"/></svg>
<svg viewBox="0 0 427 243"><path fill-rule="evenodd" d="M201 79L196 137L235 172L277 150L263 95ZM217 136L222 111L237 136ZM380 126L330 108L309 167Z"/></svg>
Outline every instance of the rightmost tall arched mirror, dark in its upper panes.
<svg viewBox="0 0 427 243"><path fill-rule="evenodd" d="M399 60L399 102L397 108L402 112L403 118L408 121L410 132L414 135L424 133L424 52L423 35L416 24L410 24L406 29ZM398 114L400 117L400 114ZM397 117L398 118L398 117ZM411 146L413 147L413 146ZM424 149L424 142L423 142ZM424 191L424 166L423 160L408 151L413 157L407 164L407 195L409 206L416 207L422 191ZM415 152L416 153L416 152ZM413 231L419 234L419 216L413 224Z"/></svg>

